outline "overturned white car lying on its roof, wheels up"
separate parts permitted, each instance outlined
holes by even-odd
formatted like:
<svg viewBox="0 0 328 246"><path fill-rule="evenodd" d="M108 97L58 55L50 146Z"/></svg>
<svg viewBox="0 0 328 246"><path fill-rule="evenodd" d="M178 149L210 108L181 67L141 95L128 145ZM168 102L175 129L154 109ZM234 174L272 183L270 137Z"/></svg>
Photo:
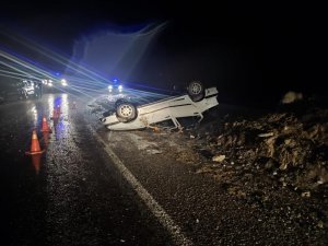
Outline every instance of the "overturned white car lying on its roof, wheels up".
<svg viewBox="0 0 328 246"><path fill-rule="evenodd" d="M132 103L118 99L116 112L99 120L110 130L136 130L151 127L155 124L172 120L173 128L181 128L178 118L199 117L202 113L219 105L216 87L204 89L199 81L192 81L187 93L136 106Z"/></svg>

